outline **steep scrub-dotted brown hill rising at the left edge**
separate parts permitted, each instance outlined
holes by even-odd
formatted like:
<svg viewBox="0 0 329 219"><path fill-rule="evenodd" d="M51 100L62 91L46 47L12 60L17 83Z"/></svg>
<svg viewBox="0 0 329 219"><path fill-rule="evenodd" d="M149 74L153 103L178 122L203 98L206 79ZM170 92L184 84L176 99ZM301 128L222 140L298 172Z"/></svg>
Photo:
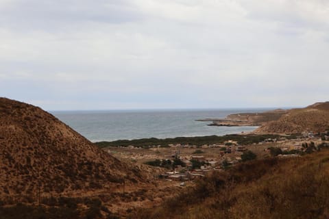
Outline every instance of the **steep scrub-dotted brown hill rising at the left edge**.
<svg viewBox="0 0 329 219"><path fill-rule="evenodd" d="M0 199L112 190L145 181L56 117L0 98Z"/></svg>

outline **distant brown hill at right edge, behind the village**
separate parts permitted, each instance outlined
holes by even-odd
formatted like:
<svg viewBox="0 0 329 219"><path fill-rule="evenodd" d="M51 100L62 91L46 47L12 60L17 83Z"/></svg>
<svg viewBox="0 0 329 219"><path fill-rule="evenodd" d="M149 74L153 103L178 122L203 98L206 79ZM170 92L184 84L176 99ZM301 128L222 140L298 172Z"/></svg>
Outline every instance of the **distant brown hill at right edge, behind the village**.
<svg viewBox="0 0 329 219"><path fill-rule="evenodd" d="M256 129L258 133L299 133L326 131L329 127L329 102L315 103L302 109L289 110L278 120Z"/></svg>

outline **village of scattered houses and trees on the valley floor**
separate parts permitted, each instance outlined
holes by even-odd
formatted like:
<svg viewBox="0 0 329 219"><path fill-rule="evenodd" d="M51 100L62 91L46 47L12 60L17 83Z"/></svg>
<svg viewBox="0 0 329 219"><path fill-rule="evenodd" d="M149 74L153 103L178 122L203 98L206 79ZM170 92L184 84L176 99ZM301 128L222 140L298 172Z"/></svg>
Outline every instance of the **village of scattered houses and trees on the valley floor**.
<svg viewBox="0 0 329 219"><path fill-rule="evenodd" d="M138 165L158 167L156 176L160 180L186 181L202 178L209 172L223 171L239 162L249 159L265 159L268 157L298 157L328 146L329 134L305 131L294 139L284 136L267 138L261 142L242 145L234 140L222 144L169 144L150 146L148 149L133 145L108 147L108 153Z"/></svg>

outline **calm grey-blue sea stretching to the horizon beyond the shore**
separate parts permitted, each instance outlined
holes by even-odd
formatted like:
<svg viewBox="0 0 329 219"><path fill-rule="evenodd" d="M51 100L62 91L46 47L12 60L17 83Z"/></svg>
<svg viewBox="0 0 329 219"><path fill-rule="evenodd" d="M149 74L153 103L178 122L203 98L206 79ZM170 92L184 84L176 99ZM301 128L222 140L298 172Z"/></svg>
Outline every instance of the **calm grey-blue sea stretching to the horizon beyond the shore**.
<svg viewBox="0 0 329 219"><path fill-rule="evenodd" d="M228 114L264 112L269 109L234 110L121 110L51 112L92 142L180 136L223 136L256 127L213 127L202 118L225 118Z"/></svg>

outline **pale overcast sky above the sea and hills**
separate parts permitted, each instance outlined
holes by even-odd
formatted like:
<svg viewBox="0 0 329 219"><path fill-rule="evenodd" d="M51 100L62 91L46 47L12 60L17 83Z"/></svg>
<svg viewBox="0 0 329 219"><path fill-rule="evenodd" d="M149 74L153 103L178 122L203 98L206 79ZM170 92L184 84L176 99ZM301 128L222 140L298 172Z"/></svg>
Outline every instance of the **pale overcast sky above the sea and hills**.
<svg viewBox="0 0 329 219"><path fill-rule="evenodd" d="M329 1L0 0L0 96L45 110L328 101Z"/></svg>

